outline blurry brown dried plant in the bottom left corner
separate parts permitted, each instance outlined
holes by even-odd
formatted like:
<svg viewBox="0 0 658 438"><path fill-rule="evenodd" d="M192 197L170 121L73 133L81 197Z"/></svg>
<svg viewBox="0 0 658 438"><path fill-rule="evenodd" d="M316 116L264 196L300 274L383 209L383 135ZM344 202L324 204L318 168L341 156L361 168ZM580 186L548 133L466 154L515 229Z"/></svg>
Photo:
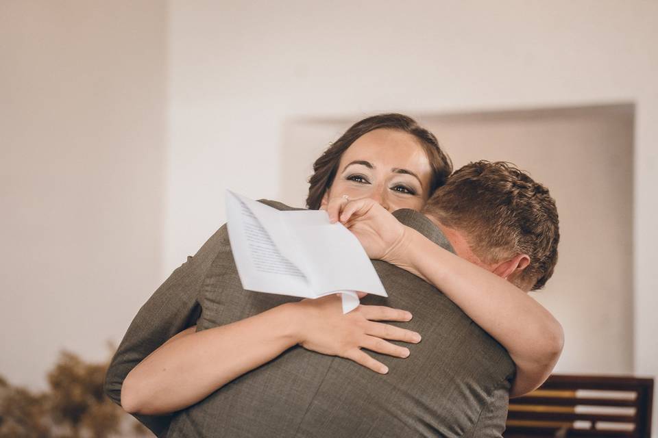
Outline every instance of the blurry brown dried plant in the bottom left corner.
<svg viewBox="0 0 658 438"><path fill-rule="evenodd" d="M14 387L0 376L0 438L150 435L104 394L109 364L87 363L62 351L47 374L49 390L40 393Z"/></svg>

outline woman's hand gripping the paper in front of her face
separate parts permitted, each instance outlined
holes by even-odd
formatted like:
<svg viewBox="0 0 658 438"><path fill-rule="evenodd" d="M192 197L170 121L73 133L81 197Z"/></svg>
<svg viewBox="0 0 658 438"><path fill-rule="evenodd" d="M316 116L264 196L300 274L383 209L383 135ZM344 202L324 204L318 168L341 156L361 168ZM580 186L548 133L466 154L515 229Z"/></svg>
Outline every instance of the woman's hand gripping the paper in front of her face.
<svg viewBox="0 0 658 438"><path fill-rule="evenodd" d="M408 241L407 229L384 207L370 198L332 198L327 205L330 222L340 221L361 242L368 257L402 263L398 254Z"/></svg>

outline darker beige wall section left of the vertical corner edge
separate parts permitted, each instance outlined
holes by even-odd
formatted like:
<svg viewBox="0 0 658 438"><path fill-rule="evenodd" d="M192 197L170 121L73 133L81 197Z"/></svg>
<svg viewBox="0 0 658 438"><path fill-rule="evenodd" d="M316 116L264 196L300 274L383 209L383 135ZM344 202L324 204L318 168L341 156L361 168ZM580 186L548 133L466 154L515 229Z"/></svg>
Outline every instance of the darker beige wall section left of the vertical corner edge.
<svg viewBox="0 0 658 438"><path fill-rule="evenodd" d="M166 9L0 2L0 374L106 359L160 283Z"/></svg>

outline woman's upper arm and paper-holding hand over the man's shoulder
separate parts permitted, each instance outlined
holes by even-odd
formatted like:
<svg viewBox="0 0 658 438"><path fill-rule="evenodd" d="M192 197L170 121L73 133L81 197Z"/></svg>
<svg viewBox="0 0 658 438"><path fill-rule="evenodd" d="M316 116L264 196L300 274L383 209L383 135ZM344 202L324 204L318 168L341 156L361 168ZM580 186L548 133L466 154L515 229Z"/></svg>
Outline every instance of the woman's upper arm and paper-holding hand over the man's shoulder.
<svg viewBox="0 0 658 438"><path fill-rule="evenodd" d="M510 396L526 394L546 381L561 354L563 330L526 292L405 227L370 199L330 201L328 214L358 237L371 258L432 283L500 342L517 369Z"/></svg>

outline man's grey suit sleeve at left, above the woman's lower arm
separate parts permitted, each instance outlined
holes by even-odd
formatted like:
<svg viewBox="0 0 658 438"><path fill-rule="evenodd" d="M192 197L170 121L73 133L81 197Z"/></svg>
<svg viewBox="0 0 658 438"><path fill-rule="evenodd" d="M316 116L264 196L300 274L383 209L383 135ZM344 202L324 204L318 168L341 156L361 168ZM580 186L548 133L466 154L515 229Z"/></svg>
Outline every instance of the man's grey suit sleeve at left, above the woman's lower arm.
<svg viewBox="0 0 658 438"><path fill-rule="evenodd" d="M106 374L105 393L119 406L121 385L130 370L167 339L193 326L199 318L199 289L210 263L217 255L219 235L224 227L212 235L194 257L188 257L182 266L173 271L132 320ZM163 435L171 422L171 415L133 416L157 436Z"/></svg>

